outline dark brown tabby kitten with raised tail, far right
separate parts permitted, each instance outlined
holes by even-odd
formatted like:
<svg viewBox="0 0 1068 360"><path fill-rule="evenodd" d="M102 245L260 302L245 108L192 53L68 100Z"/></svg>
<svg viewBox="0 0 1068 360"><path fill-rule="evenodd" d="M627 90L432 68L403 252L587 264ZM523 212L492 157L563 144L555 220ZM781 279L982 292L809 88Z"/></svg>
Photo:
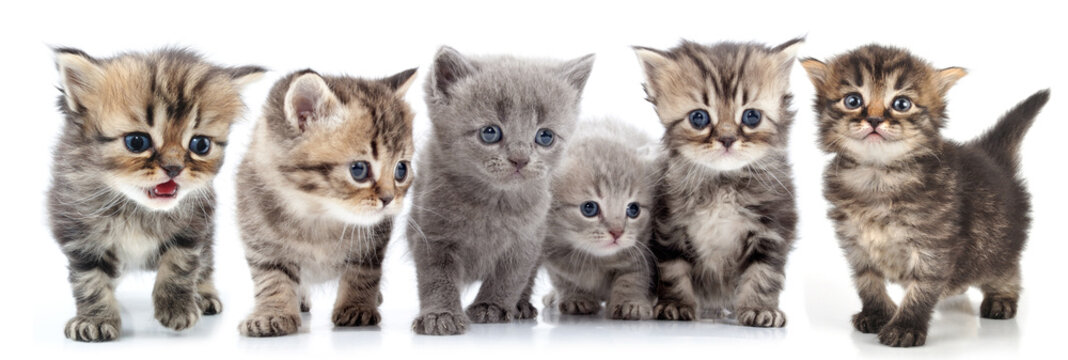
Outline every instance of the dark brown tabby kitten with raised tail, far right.
<svg viewBox="0 0 1068 360"><path fill-rule="evenodd" d="M802 64L820 146L835 154L823 193L863 302L853 327L885 345L923 345L934 303L968 286L983 289L980 316L1015 316L1031 223L1018 153L1049 91L962 144L939 132L962 68L878 45ZM886 280L905 286L900 307Z"/></svg>

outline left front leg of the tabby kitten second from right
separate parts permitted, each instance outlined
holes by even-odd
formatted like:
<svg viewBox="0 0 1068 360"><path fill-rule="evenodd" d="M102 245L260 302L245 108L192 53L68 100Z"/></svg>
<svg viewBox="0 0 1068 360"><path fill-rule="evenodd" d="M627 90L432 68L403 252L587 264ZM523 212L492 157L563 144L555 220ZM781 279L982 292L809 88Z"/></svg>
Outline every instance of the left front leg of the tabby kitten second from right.
<svg viewBox="0 0 1068 360"><path fill-rule="evenodd" d="M697 298L693 294L690 278L693 265L682 259L673 259L661 262L658 266L660 281L657 284L657 306L653 313L662 320L695 319Z"/></svg>

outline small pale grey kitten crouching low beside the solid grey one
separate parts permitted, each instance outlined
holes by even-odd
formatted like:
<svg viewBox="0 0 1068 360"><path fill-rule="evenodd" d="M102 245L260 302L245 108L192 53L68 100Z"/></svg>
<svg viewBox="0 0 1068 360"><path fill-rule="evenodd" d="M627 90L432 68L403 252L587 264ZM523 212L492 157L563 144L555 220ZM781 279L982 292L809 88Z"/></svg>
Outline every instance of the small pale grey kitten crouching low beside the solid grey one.
<svg viewBox="0 0 1068 360"><path fill-rule="evenodd" d="M648 250L659 176L656 143L615 121L580 123L552 182L543 263L546 307L614 319L653 317L656 260Z"/></svg>

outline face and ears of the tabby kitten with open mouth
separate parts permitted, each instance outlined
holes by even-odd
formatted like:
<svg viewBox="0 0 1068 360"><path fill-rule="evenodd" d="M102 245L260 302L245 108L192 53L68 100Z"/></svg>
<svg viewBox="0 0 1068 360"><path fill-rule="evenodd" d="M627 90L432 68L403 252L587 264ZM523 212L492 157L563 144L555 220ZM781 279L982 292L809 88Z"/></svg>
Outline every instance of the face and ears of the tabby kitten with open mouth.
<svg viewBox="0 0 1068 360"><path fill-rule="evenodd" d="M210 189L245 109L239 92L264 72L218 67L182 49L112 59L58 49L57 65L61 106L93 154L87 176L154 210Z"/></svg>

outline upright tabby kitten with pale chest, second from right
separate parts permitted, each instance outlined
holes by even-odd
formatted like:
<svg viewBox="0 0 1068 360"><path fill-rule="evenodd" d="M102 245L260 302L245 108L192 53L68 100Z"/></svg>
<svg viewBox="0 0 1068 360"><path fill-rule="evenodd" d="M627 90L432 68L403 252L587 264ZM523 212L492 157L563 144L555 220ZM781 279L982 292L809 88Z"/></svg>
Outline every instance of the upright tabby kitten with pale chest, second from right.
<svg viewBox="0 0 1068 360"><path fill-rule="evenodd" d="M692 320L703 309L744 326L786 324L779 293L797 226L788 80L801 43L635 48L666 128L650 244L657 318Z"/></svg>

